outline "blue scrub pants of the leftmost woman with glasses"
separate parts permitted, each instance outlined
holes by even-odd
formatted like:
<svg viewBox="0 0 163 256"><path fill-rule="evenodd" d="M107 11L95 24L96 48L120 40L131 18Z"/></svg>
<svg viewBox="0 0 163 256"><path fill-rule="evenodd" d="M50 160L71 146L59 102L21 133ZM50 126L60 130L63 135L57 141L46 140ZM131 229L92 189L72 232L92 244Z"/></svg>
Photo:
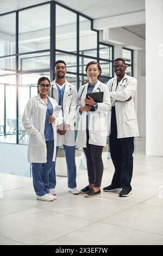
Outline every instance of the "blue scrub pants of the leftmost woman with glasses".
<svg viewBox="0 0 163 256"><path fill-rule="evenodd" d="M54 169L53 151L54 141L46 142L47 148L47 162L46 163L32 163L32 176L34 190L37 196L43 196L50 193L49 191L49 173Z"/></svg>

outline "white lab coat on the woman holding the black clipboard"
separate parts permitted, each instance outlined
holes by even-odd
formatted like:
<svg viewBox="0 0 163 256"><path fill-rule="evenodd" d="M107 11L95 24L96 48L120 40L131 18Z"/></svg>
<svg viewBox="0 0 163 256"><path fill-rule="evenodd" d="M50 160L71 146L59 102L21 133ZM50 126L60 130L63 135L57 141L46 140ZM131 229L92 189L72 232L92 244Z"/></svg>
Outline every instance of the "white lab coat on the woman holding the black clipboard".
<svg viewBox="0 0 163 256"><path fill-rule="evenodd" d="M85 106L84 99L87 94L88 84L79 88L78 92L78 111L81 106ZM84 90L83 90L84 88ZM83 93L82 93L83 91ZM89 111L90 119L89 119L89 144L93 145L106 145L106 136L107 133L107 118L108 111L111 108L110 103L110 93L106 84L100 82L96 83L93 92L104 92L103 102L98 103L98 108L96 111ZM82 94L82 96L81 96ZM80 100L80 97L82 99ZM80 114L79 125L78 125L78 135L76 145L77 147L86 148L86 111L83 111Z"/></svg>

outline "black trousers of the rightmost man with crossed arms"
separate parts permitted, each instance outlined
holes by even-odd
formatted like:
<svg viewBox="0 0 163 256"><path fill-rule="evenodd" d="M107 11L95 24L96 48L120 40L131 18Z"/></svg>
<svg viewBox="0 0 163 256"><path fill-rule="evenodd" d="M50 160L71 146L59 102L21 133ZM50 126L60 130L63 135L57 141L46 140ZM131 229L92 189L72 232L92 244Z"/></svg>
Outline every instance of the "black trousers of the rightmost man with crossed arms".
<svg viewBox="0 0 163 256"><path fill-rule="evenodd" d="M117 139L115 113L111 112L111 134L109 136L110 155L115 167L111 181L114 187L131 188L133 176L134 137Z"/></svg>

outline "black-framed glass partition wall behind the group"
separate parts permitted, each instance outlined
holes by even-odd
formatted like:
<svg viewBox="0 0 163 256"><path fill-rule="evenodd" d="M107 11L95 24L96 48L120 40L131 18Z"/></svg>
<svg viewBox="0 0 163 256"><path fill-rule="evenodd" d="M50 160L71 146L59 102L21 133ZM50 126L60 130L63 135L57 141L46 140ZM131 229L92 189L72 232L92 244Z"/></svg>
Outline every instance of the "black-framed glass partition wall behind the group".
<svg viewBox="0 0 163 256"><path fill-rule="evenodd" d="M93 21L55 1L0 15L0 143L28 144L21 119L37 94L41 76L54 80L55 60L67 64L67 81L87 82L85 65L102 66L101 81L113 76L113 46L99 42Z"/></svg>

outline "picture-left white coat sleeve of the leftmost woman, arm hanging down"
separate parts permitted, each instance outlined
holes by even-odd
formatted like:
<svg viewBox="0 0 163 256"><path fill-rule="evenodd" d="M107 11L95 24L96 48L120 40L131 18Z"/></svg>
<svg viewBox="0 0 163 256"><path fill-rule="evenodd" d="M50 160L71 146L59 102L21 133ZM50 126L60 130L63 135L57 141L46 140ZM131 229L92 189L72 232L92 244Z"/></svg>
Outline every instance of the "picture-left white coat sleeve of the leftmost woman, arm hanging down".
<svg viewBox="0 0 163 256"><path fill-rule="evenodd" d="M39 130L35 128L32 124L32 114L33 114L33 101L31 99L28 100L27 105L24 109L22 124L24 129L27 131L29 135L35 135Z"/></svg>

